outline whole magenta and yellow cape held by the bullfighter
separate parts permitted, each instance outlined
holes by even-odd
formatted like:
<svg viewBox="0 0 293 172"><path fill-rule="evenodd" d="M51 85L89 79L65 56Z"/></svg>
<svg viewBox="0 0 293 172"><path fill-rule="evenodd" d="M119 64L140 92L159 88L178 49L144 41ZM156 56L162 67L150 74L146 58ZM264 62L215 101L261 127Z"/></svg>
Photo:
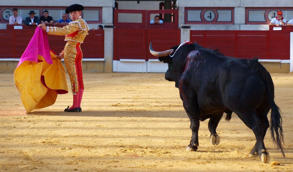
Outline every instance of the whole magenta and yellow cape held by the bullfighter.
<svg viewBox="0 0 293 172"><path fill-rule="evenodd" d="M68 93L64 67L49 49L47 34L37 27L14 71L26 113L55 103L57 94Z"/></svg>

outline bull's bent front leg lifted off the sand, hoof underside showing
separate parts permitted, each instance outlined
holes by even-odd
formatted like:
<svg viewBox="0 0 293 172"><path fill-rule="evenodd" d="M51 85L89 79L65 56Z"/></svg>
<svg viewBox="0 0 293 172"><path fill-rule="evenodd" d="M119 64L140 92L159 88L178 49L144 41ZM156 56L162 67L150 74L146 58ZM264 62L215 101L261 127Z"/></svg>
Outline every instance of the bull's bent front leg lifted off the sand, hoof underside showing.
<svg viewBox="0 0 293 172"><path fill-rule="evenodd" d="M208 121L208 130L211 132L210 141L213 145L219 145L220 143L220 136L217 134L216 128L222 116L223 116L223 113L215 115L214 117L210 118L210 120Z"/></svg>

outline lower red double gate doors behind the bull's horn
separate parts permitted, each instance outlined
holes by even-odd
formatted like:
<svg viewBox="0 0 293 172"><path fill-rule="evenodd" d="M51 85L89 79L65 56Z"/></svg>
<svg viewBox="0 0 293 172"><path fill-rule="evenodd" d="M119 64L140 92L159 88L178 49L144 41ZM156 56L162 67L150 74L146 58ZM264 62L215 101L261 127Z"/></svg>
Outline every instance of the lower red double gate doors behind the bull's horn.
<svg viewBox="0 0 293 172"><path fill-rule="evenodd" d="M180 29L114 29L114 60L157 59L149 52L165 51L180 44Z"/></svg>

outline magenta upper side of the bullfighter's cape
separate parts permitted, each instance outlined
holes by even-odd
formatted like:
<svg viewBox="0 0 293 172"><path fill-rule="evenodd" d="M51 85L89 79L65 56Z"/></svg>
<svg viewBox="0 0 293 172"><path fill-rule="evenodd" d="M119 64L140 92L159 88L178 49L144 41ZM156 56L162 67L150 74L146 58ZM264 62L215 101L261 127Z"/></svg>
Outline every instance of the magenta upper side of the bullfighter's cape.
<svg viewBox="0 0 293 172"><path fill-rule="evenodd" d="M22 54L16 68L18 68L18 66L24 61L33 61L36 63L40 62L38 61L38 55L42 56L48 64L53 64L50 56L48 37L44 32L45 31L42 28L36 28L34 36L27 45L27 48Z"/></svg>

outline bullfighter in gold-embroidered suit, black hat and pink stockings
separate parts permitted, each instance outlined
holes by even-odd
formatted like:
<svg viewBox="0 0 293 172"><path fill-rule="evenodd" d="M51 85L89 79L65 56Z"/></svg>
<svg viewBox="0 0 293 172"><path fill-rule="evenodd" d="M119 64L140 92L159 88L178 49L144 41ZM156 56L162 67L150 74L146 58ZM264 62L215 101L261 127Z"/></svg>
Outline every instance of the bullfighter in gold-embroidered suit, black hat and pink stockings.
<svg viewBox="0 0 293 172"><path fill-rule="evenodd" d="M88 35L89 26L81 18L81 10L84 7L79 4L73 4L67 7L65 12L71 16L72 22L69 25L60 27L49 27L45 24L38 26L44 29L50 35L65 36L67 41L64 50L60 53L58 58L64 58L64 63L70 78L71 90L73 94L73 105L67 107L65 112L81 112L81 99L84 90L82 79L82 51L80 44L83 43L85 36Z"/></svg>

